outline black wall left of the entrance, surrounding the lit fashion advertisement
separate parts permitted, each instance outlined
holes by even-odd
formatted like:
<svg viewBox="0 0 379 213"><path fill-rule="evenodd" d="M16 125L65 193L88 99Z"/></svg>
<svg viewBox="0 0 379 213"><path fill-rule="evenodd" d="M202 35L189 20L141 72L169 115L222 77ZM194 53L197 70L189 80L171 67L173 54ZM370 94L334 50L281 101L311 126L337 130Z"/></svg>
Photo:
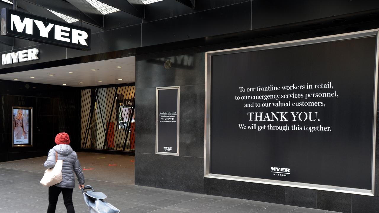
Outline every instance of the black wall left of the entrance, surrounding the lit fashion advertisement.
<svg viewBox="0 0 379 213"><path fill-rule="evenodd" d="M0 81L0 162L47 155L57 133L79 143L78 90L72 87ZM12 147L12 107L33 107L33 146Z"/></svg>

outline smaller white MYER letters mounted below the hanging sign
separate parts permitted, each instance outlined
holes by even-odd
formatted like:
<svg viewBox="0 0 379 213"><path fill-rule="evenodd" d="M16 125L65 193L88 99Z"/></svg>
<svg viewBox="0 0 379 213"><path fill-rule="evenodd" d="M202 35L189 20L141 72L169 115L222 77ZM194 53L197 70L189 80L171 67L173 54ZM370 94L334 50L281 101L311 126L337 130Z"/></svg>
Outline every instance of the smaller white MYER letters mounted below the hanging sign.
<svg viewBox="0 0 379 213"><path fill-rule="evenodd" d="M15 53L7 53L1 56L2 65L19 63L23 61L33 61L38 59L38 49L22 50Z"/></svg>

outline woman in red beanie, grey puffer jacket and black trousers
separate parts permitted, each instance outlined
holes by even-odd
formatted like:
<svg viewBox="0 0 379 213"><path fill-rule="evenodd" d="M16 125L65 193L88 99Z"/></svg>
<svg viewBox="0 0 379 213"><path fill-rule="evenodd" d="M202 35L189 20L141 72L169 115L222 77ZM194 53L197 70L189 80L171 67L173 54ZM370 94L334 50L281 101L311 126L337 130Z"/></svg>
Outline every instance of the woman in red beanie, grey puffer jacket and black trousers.
<svg viewBox="0 0 379 213"><path fill-rule="evenodd" d="M55 137L56 146L50 149L49 156L44 163L47 169L55 166L55 155L58 153L58 160L63 160L62 181L49 187L49 207L47 213L55 213L56 203L60 193L63 195L63 202L67 213L75 213L72 204L72 191L75 187L74 173L79 182L79 189L84 188L84 175L80 167L80 162L76 152L71 148L70 137L67 133L61 132Z"/></svg>

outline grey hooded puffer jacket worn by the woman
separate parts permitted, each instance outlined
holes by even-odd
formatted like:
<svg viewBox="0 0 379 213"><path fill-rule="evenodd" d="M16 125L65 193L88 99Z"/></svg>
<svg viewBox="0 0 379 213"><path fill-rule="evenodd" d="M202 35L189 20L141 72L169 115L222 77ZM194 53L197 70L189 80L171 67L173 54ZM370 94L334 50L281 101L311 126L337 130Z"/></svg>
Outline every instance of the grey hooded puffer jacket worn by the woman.
<svg viewBox="0 0 379 213"><path fill-rule="evenodd" d="M80 162L76 152L70 145L59 144L50 149L47 160L44 163L45 168L50 169L55 166L55 153L58 152L58 160L63 160L62 166L62 181L55 184L61 188L74 188L75 178L74 173L78 177L79 184L84 184L84 175L80 167Z"/></svg>

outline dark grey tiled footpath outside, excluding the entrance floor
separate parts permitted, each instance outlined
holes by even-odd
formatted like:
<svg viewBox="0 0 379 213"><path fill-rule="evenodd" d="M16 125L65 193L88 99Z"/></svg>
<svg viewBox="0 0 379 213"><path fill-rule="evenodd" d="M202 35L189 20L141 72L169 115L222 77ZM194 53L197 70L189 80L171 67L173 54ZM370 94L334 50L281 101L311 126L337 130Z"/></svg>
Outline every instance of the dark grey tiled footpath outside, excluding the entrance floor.
<svg viewBox="0 0 379 213"><path fill-rule="evenodd" d="M39 184L42 174L0 168L0 213L44 213L48 188ZM253 200L208 196L146 186L86 180L122 213L331 213L332 211L270 204ZM73 194L75 212L89 212L78 188ZM66 212L60 196L57 213Z"/></svg>

